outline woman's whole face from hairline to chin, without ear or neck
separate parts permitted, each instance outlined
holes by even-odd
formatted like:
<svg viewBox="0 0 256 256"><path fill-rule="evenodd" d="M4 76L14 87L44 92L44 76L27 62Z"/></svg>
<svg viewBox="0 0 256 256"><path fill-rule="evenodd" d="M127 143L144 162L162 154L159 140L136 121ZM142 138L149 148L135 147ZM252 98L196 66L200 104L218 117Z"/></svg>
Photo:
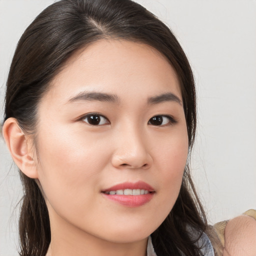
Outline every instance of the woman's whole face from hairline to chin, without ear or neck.
<svg viewBox="0 0 256 256"><path fill-rule="evenodd" d="M175 71L146 44L99 40L68 60L38 105L52 232L132 242L161 224L187 158L181 99Z"/></svg>

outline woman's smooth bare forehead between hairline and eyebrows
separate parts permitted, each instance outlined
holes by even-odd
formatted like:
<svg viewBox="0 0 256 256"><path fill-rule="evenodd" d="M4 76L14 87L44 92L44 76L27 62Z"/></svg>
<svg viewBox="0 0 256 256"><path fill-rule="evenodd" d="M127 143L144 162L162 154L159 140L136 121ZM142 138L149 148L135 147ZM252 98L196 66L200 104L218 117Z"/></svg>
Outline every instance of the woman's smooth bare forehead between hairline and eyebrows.
<svg viewBox="0 0 256 256"><path fill-rule="evenodd" d="M75 52L51 82L50 95L65 100L84 90L140 95L163 90L181 97L176 72L155 48L139 42L102 39Z"/></svg>

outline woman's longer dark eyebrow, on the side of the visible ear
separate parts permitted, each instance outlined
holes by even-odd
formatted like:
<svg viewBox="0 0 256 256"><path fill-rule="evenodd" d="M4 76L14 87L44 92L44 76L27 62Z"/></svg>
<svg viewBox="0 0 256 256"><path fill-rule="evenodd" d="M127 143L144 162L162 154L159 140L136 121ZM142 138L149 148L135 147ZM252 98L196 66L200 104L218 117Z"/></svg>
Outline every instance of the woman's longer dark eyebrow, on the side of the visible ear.
<svg viewBox="0 0 256 256"><path fill-rule="evenodd" d="M117 97L117 95L103 93L103 92L93 92L93 91L92 92L87 92L87 91L79 92L77 95L71 97L67 101L67 103L79 101L79 100L86 100L86 101L98 100L98 101L119 103L119 98Z"/></svg>

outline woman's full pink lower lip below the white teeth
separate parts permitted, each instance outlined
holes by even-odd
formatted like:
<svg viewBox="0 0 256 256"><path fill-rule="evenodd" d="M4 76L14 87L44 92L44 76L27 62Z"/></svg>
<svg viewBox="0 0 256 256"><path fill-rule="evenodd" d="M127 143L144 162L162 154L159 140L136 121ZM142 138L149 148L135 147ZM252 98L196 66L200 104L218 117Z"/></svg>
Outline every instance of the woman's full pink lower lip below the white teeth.
<svg viewBox="0 0 256 256"><path fill-rule="evenodd" d="M153 192L140 195L123 195L123 194L105 194L102 193L107 199L120 203L128 207L138 207L149 202L153 197Z"/></svg>

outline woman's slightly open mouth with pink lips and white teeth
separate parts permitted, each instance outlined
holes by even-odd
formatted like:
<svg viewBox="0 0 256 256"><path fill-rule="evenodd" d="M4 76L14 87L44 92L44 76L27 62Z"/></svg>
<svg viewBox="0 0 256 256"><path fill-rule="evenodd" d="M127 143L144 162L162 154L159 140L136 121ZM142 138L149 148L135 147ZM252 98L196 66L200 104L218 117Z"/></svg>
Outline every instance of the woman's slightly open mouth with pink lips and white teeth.
<svg viewBox="0 0 256 256"><path fill-rule="evenodd" d="M149 202L155 194L155 190L149 184L138 181L114 185L102 190L101 193L105 198L115 203L128 207L138 207Z"/></svg>

